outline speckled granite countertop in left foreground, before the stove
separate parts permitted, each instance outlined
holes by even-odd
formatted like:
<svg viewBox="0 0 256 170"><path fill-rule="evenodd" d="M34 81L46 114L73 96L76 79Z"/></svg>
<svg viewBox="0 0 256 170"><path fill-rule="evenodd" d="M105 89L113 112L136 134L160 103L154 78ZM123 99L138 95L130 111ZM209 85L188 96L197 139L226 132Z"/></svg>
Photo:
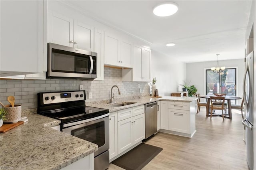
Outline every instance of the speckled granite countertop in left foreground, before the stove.
<svg viewBox="0 0 256 170"><path fill-rule="evenodd" d="M98 150L98 145L54 130L60 121L26 115L28 122L0 134L0 167L59 170Z"/></svg>

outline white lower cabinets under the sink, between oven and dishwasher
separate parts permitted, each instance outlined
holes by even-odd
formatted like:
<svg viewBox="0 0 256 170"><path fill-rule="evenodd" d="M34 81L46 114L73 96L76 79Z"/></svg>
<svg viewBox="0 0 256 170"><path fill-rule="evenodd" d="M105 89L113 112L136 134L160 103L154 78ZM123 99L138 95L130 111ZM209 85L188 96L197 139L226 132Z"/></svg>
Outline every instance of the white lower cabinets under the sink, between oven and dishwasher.
<svg viewBox="0 0 256 170"><path fill-rule="evenodd" d="M145 139L144 105L110 113L110 162Z"/></svg>

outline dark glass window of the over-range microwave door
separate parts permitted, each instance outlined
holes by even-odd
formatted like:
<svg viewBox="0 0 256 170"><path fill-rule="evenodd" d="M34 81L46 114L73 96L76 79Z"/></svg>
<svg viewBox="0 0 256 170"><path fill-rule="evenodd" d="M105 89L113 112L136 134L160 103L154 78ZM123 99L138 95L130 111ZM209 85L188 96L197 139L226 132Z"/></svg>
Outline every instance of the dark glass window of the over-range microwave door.
<svg viewBox="0 0 256 170"><path fill-rule="evenodd" d="M89 73L89 56L52 49L52 71L64 73Z"/></svg>

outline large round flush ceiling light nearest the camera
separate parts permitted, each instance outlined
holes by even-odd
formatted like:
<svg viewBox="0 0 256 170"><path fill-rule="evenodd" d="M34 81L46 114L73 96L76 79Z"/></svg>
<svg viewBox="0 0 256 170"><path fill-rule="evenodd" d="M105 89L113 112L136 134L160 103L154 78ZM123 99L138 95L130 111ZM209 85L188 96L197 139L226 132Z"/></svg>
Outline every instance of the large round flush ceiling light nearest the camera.
<svg viewBox="0 0 256 170"><path fill-rule="evenodd" d="M156 16L170 16L178 11L178 5L173 2L166 2L160 4L153 9L153 13Z"/></svg>

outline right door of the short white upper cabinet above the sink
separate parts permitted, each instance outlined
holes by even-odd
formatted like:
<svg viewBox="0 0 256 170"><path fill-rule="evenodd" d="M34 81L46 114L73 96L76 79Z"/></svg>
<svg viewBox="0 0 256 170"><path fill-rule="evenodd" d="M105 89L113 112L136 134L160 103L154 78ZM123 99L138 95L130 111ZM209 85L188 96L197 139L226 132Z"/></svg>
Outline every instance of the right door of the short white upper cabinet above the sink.
<svg viewBox="0 0 256 170"><path fill-rule="evenodd" d="M132 42L120 41L120 66L132 68Z"/></svg>

